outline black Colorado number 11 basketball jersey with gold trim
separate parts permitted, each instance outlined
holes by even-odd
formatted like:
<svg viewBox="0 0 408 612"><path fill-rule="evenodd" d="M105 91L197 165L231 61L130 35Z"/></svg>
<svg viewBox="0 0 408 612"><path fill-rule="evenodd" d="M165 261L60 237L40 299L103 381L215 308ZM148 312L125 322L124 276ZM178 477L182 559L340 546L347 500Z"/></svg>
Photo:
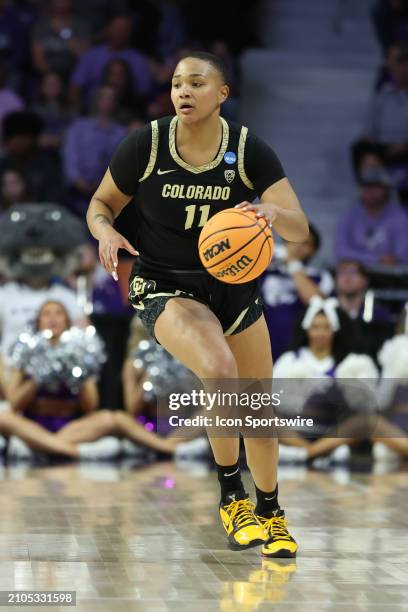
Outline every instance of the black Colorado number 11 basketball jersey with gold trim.
<svg viewBox="0 0 408 612"><path fill-rule="evenodd" d="M132 208L125 218L132 227L126 235L141 256L190 268L201 265L198 237L210 217L252 201L285 174L265 143L223 118L217 156L191 166L177 151L177 122L165 117L130 134L109 168L117 187L134 196L127 206Z"/></svg>

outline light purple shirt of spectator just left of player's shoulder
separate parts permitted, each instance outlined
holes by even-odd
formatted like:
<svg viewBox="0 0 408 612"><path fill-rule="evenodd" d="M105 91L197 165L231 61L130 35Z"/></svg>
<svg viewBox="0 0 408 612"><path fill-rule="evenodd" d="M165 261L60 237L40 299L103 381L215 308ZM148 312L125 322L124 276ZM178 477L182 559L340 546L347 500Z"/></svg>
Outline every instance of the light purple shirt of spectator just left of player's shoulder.
<svg viewBox="0 0 408 612"><path fill-rule="evenodd" d="M66 132L63 148L67 182L99 183L125 135L126 128L113 121L102 124L95 117L75 120Z"/></svg>

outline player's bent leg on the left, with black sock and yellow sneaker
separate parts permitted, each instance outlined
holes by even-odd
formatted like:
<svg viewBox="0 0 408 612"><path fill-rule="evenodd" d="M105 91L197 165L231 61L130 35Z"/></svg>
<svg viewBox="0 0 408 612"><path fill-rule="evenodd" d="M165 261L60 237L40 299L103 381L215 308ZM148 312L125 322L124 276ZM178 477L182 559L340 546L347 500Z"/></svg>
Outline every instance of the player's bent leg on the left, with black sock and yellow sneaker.
<svg viewBox="0 0 408 612"><path fill-rule="evenodd" d="M237 379L238 368L222 327L204 304L188 298L171 299L155 325L158 341L203 381ZM213 385L216 383L214 382ZM217 389L214 387L214 391ZM258 546L265 530L244 491L238 465L239 438L209 437L221 485L220 516L233 550Z"/></svg>

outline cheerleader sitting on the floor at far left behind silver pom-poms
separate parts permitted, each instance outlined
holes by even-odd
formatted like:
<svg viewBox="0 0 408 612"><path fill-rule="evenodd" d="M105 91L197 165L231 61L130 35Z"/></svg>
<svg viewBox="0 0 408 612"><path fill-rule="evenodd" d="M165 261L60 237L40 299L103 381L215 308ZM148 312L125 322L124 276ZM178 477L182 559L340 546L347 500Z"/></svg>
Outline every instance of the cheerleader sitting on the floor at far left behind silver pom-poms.
<svg viewBox="0 0 408 612"><path fill-rule="evenodd" d="M65 307L48 301L37 317L36 331L50 330L50 348L71 327ZM107 435L126 437L156 451L172 453L180 439L167 440L145 430L129 414L98 410L99 395L94 377L73 391L63 381L52 390L22 369L11 371L6 385L10 410L0 413L0 433L15 435L30 448L50 454L79 458L87 454L86 442Z"/></svg>

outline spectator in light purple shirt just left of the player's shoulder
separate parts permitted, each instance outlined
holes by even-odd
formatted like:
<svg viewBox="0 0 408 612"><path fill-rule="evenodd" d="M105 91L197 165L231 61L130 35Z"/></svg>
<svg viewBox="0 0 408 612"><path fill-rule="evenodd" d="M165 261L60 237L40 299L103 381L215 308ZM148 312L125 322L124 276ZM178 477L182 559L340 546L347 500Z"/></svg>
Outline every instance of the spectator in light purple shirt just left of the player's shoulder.
<svg viewBox="0 0 408 612"><path fill-rule="evenodd" d="M126 128L112 119L116 109L115 91L101 87L95 99L95 113L72 122L62 151L65 180L70 189L69 204L80 215L101 181L113 151L126 134Z"/></svg>

